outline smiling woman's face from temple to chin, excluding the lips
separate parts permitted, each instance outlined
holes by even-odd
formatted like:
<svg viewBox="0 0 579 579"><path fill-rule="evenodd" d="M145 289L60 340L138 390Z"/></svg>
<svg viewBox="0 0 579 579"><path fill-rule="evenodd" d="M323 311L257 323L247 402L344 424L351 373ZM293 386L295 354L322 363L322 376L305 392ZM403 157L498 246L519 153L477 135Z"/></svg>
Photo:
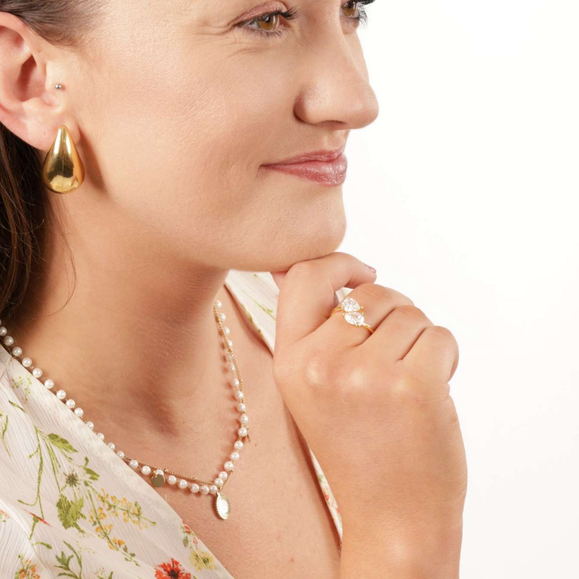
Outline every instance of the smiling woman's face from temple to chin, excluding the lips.
<svg viewBox="0 0 579 579"><path fill-rule="evenodd" d="M267 20L293 6L297 16ZM96 49L47 70L63 84L53 94L77 123L86 168L82 188L58 197L84 196L86 213L94 196L93 222L185 262L265 271L334 251L342 186L264 165L338 148L378 115L354 2L108 8Z"/></svg>

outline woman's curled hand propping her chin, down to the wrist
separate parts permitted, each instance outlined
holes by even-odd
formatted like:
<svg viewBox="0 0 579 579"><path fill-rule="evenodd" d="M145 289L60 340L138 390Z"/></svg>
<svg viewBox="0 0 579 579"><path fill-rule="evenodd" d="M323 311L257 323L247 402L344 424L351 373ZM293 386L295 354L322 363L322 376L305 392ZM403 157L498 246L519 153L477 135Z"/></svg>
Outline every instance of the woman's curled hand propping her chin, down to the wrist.
<svg viewBox="0 0 579 579"><path fill-rule="evenodd" d="M272 275L274 380L345 529L374 528L406 546L461 534L467 466L449 394L459 359L452 333L343 252ZM341 287L352 288L373 334L342 313L328 318Z"/></svg>

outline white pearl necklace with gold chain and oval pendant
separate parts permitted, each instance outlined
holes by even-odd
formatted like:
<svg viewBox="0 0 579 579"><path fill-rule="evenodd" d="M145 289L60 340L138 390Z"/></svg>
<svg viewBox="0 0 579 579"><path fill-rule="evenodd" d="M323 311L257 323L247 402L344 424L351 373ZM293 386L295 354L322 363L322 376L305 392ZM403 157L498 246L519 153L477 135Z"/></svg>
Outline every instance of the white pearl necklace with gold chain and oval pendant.
<svg viewBox="0 0 579 579"><path fill-rule="evenodd" d="M241 426L237 428L237 440L233 443L233 452L230 453L229 460L223 463L223 470L219 472L214 481L210 482L203 481L196 477L188 477L186 475L179 474L178 472L168 470L167 468L150 466L149 464L142 463L137 459L126 456L122 450L116 450L116 455L119 456L125 463L127 463L134 471L140 471L142 475L148 477L153 486L163 486L167 482L168 485L175 486L179 489L189 489L193 494L214 495L215 499L213 504L215 508L215 514L217 514L220 519L228 519L231 513L231 506L228 497L222 493L222 489L225 487L227 481L231 477L234 463L239 460L239 451L243 448L242 439L245 437L247 437L248 441L251 441L251 439L248 435L249 427L247 426L249 418L245 413L243 380L241 379L241 373L239 372L239 367L237 366L237 361L235 360L235 356L233 354L233 342L228 338L230 330L228 327L223 325L223 321L225 321L225 314L219 312L219 309L221 309L221 301L217 299L213 303L213 312L215 314L217 325L219 326L219 331L221 332L219 343L222 346L225 346L226 349L226 368L234 375L233 378L230 379L229 384L233 389L233 398L236 402L236 409L240 412L238 420L241 424ZM1 322L2 320L0 320L0 323ZM5 350L7 350L14 358L22 358L22 349L18 346L13 347L14 338L7 334L8 330L5 327L0 326L0 336L3 337L3 346ZM24 366L24 368L27 368L28 371L32 371L31 373L36 379L40 379L43 372L40 368L35 368L32 365L31 358L22 358L21 364ZM54 389L54 382L53 380L50 380L50 378L45 379L43 384L48 390ZM90 420L85 420L83 418L84 411L82 408L76 406L75 400L72 398L67 398L67 393L64 390L57 390L56 392L53 390L53 393L56 395L58 400L63 401L67 407L70 408L71 411L73 411L75 415L78 416L86 424L86 426L90 428L90 430L94 431L94 424ZM104 434L99 432L96 433L96 436L100 438L101 441L105 442ZM113 442L105 442L105 444L111 450L115 450L116 448L116 445ZM167 473L168 476L165 478Z"/></svg>

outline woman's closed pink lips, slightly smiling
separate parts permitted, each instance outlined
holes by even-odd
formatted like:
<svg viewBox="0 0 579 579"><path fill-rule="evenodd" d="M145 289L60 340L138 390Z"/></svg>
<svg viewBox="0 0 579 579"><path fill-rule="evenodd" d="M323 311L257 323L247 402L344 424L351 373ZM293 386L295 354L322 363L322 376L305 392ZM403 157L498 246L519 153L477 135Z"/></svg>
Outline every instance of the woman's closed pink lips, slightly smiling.
<svg viewBox="0 0 579 579"><path fill-rule="evenodd" d="M343 147L335 151L307 153L270 165L263 165L274 171L281 171L321 185L341 185L346 180L348 161Z"/></svg>

